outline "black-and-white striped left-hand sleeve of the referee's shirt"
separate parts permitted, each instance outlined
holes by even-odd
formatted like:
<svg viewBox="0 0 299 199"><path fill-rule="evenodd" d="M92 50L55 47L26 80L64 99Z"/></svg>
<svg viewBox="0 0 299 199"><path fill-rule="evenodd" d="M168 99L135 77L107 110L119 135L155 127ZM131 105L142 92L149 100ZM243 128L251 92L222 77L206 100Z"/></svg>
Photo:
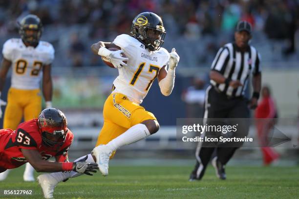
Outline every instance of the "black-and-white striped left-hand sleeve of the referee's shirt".
<svg viewBox="0 0 299 199"><path fill-rule="evenodd" d="M212 62L211 70L218 71L222 75L224 74L225 68L229 61L229 50L227 47L222 47L219 49L214 61Z"/></svg>

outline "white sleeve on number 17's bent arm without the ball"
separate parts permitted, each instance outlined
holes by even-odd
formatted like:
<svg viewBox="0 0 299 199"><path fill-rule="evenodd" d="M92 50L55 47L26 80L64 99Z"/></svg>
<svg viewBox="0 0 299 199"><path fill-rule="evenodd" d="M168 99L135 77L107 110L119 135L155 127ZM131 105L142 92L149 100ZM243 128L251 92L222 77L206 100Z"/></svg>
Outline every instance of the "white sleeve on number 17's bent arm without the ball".
<svg viewBox="0 0 299 199"><path fill-rule="evenodd" d="M166 77L163 80L159 81L160 90L163 95L169 96L171 94L174 86L174 79L175 79L175 68L174 69L169 68Z"/></svg>

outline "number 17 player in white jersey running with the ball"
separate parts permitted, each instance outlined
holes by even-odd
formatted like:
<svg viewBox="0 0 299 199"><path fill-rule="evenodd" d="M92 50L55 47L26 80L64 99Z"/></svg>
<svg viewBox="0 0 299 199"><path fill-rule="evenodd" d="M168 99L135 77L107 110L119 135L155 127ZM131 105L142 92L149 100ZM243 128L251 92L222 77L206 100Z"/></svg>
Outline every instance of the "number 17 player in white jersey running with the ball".
<svg viewBox="0 0 299 199"><path fill-rule="evenodd" d="M113 82L112 93L104 104L104 126L96 147L92 154L79 158L86 162L96 161L104 176L108 175L108 161L117 148L144 139L159 130L154 115L139 104L155 78L158 78L163 95L169 96L173 89L179 56L174 48L168 53L161 47L165 35L161 18L145 12L133 20L131 35L119 35L113 42L100 41L91 46L93 53L106 57L119 72ZM110 51L108 48L119 50ZM122 57L122 53L126 58ZM52 198L57 183L79 175L76 172L40 175L38 180L44 197Z"/></svg>

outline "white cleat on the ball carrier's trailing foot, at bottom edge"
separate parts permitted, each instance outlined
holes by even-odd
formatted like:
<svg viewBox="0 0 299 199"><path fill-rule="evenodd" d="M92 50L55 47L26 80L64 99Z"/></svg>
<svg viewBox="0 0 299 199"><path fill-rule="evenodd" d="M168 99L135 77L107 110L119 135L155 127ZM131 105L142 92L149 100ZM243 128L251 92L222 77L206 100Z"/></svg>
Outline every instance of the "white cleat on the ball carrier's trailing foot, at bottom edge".
<svg viewBox="0 0 299 199"><path fill-rule="evenodd" d="M45 199L53 199L54 188L58 184L58 181L50 174L40 175L37 180L43 189L43 197Z"/></svg>

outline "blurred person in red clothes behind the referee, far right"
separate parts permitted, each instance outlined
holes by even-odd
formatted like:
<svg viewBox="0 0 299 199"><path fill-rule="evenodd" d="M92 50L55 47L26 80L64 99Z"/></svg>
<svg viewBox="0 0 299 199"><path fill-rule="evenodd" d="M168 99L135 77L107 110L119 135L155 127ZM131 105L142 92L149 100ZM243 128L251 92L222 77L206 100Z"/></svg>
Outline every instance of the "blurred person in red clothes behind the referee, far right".
<svg viewBox="0 0 299 199"><path fill-rule="evenodd" d="M257 137L263 153L263 162L264 165L269 165L279 158L279 154L274 148L268 147L268 135L278 118L277 108L268 86L262 88L262 99L256 108L255 118Z"/></svg>

